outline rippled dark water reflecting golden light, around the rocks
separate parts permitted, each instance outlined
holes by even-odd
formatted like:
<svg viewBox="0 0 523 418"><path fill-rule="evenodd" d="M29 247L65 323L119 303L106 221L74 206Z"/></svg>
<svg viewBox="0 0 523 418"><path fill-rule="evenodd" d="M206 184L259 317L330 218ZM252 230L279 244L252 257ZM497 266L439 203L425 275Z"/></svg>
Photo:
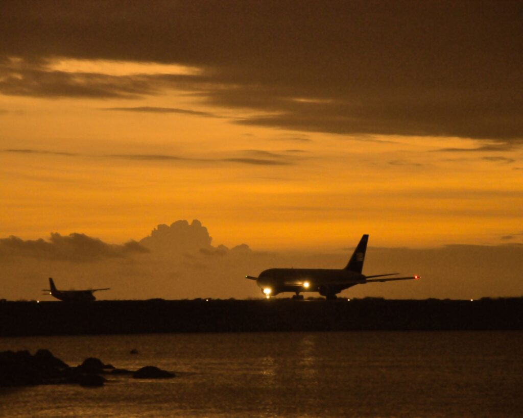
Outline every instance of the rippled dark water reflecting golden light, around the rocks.
<svg viewBox="0 0 523 418"><path fill-rule="evenodd" d="M39 348L69 365L94 356L177 376L109 375L101 388L0 388L0 416L523 416L518 331L0 339L0 351Z"/></svg>

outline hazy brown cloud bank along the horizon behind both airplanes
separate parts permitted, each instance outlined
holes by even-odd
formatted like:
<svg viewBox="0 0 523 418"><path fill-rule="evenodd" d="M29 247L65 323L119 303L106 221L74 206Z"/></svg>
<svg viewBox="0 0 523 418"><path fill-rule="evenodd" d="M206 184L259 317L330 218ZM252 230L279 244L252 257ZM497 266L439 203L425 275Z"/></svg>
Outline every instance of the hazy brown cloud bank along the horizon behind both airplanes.
<svg viewBox="0 0 523 418"><path fill-rule="evenodd" d="M124 245L109 245L83 234L52 234L49 240L0 239L3 297L7 298L40 297L35 289L45 286L50 275L64 288L111 287L100 297L116 299L262 297L245 275L257 276L269 268L340 269L353 250L276 253L253 251L246 244L229 249L213 245L208 229L196 219L158 225L147 237ZM364 274L400 272L419 274L422 280L369 283L343 294L416 299L521 296L522 270L521 244L422 249L371 246Z"/></svg>

